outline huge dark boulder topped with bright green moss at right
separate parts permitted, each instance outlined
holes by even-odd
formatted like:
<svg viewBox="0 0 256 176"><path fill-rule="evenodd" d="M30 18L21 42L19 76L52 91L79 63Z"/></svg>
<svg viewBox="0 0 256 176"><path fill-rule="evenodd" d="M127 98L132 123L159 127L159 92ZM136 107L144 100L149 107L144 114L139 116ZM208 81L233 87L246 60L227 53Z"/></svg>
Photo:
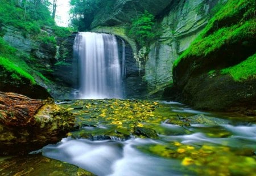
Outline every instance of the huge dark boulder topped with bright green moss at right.
<svg viewBox="0 0 256 176"><path fill-rule="evenodd" d="M171 97L200 109L255 109L255 1L228 1L174 64Z"/></svg>

